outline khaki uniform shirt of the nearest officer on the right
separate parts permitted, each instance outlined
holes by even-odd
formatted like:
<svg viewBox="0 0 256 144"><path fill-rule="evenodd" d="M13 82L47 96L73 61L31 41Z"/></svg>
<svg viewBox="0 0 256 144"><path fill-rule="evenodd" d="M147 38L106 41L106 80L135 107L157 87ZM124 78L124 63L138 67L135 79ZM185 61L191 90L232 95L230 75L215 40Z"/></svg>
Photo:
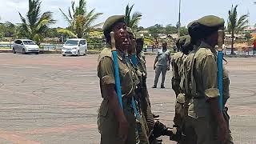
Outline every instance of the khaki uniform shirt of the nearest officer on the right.
<svg viewBox="0 0 256 144"><path fill-rule="evenodd" d="M190 117L210 116L210 105L207 100L219 96L217 72L216 50L202 42L191 63L191 93L193 98L188 110Z"/></svg>

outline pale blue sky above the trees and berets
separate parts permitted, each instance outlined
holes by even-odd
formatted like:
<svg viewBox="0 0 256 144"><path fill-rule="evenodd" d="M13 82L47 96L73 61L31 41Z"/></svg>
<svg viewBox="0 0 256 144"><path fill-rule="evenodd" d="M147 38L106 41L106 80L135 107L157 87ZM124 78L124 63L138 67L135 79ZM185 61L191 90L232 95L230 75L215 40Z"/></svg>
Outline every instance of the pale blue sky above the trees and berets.
<svg viewBox="0 0 256 144"><path fill-rule="evenodd" d="M78 4L79 0L75 0ZM205 15L214 14L227 21L228 10L238 5L238 15L250 13L250 25L256 23L256 0L182 0L181 24L186 26L189 22ZM42 0L42 12L54 12L57 23L52 27L66 27L61 8L67 12L71 0ZM139 26L148 27L155 24L166 26L176 25L178 22L178 0L87 0L87 9L95 8L96 12L103 13L95 23L104 22L114 14L124 14L127 4L134 4L134 11L142 13ZM25 15L28 10L28 0L0 0L0 22L21 22L18 12Z"/></svg>

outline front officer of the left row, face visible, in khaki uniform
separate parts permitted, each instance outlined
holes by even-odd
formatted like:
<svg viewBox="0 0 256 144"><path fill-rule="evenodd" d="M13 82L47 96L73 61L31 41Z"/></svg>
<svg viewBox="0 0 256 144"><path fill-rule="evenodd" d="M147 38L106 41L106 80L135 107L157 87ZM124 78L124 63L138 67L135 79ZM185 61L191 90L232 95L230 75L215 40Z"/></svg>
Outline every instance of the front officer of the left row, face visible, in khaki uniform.
<svg viewBox="0 0 256 144"><path fill-rule="evenodd" d="M135 117L131 98L135 95L133 72L126 64L124 51L130 46L123 15L106 19L103 26L106 42L110 46L110 32L114 32L118 51L118 66L122 89L123 110L115 91L114 64L111 49L106 48L98 57L98 78L102 93L102 104L98 112L98 130L102 144L136 143Z"/></svg>

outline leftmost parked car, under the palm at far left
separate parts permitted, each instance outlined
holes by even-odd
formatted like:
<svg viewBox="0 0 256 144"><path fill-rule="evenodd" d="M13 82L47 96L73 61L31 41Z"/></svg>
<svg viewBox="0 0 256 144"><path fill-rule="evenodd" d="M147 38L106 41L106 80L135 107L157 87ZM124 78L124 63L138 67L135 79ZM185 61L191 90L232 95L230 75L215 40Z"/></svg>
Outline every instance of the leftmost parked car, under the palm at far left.
<svg viewBox="0 0 256 144"><path fill-rule="evenodd" d="M30 39L17 39L14 41L13 52L16 53L34 53L39 54L39 46Z"/></svg>

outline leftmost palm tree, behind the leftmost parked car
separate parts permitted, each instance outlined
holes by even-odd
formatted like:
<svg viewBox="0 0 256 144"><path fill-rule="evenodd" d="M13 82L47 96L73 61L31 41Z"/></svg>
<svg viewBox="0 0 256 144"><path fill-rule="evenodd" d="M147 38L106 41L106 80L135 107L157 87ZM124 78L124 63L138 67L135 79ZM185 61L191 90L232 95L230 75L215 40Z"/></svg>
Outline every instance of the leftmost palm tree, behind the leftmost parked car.
<svg viewBox="0 0 256 144"><path fill-rule="evenodd" d="M20 30L18 30L19 34L24 38L30 38L38 42L38 44L42 41L49 26L56 22L53 19L52 12L46 11L41 14L40 11L40 0L29 0L29 11L26 14L26 18L18 13L22 19L22 24L19 26Z"/></svg>

